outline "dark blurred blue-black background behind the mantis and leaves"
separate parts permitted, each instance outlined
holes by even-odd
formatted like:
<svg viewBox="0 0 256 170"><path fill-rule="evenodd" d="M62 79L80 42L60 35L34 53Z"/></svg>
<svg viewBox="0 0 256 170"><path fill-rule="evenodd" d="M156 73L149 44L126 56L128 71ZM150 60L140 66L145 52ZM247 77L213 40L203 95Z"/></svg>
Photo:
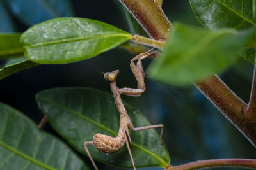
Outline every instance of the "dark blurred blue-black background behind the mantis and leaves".
<svg viewBox="0 0 256 170"><path fill-rule="evenodd" d="M40 7L34 8L35 2L0 1L0 31L24 32L33 24L59 17L44 15L45 11L38 10ZM27 11L27 14L20 13L22 11L19 10L20 8ZM28 12L29 10L32 14ZM124 9L117 0L72 0L67 10L63 16L92 18L128 32L132 31L124 17ZM200 25L189 6L189 1L165 0L163 10L171 22L180 21ZM35 13L39 14L35 15ZM49 13L51 14L51 11ZM31 17L33 15L31 20L29 15ZM144 34L141 30L135 30L135 32ZM129 67L129 62L134 55L136 54L123 48L115 48L81 62L41 65L21 71L0 80L0 101L17 108L38 123L43 115L36 106L35 94L40 90L84 86L111 92L109 83L95 71L95 67L102 71L120 69L118 87L136 87L136 80ZM143 64L147 67L149 63L150 59L147 59ZM247 60L239 59L234 66L220 76L241 99L248 102L252 74L253 65ZM164 124L163 139L170 152L172 165L203 159L256 158L255 148L243 134L228 122L227 118L214 108L193 85L172 87L147 79L146 86L147 90L141 97L124 96L122 98L138 108L152 124ZM44 130L55 134L49 124L44 127ZM83 157L83 159L88 162L88 166L92 167L88 158ZM99 162L97 165L99 169L120 169Z"/></svg>

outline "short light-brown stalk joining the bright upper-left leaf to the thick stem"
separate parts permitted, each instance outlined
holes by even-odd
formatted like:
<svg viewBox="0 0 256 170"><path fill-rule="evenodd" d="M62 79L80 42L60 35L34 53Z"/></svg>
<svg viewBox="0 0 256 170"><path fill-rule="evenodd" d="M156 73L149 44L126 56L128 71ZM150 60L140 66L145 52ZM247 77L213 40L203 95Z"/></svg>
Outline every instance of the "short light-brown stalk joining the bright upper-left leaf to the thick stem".
<svg viewBox="0 0 256 170"><path fill-rule="evenodd" d="M158 48L158 49L163 48L163 46L165 45L165 41L157 41L157 40L150 39L150 38L147 38L144 36L139 36L137 34L132 36L131 41L133 41L134 43L140 43L143 45L152 46L152 47Z"/></svg>

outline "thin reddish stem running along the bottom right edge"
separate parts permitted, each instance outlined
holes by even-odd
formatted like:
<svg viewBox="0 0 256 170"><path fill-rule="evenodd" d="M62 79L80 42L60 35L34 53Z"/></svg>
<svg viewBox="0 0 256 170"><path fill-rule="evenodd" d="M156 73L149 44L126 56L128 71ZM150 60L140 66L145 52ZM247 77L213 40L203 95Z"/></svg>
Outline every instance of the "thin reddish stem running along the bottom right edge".
<svg viewBox="0 0 256 170"><path fill-rule="evenodd" d="M244 167L249 169L256 169L255 159L212 159L200 160L183 164L181 166L168 167L166 170L192 170L202 169L208 167Z"/></svg>

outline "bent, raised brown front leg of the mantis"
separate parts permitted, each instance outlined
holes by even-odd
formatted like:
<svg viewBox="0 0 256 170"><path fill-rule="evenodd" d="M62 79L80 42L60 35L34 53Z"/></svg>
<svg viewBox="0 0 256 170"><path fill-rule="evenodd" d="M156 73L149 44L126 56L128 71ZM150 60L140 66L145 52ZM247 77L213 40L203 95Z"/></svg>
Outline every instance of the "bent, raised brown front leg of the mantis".
<svg viewBox="0 0 256 170"><path fill-rule="evenodd" d="M141 94L146 90L145 73L144 73L144 69L143 69L141 60L147 58L150 55L153 55L153 53L150 53L148 51L148 52L136 55L131 60L130 67L131 67L132 73L134 74L134 76L138 82L138 88L134 89L134 88L129 88L129 87L123 87L123 88L119 89L120 94L137 97L137 96L141 96ZM135 60L138 60L136 65L134 64Z"/></svg>

